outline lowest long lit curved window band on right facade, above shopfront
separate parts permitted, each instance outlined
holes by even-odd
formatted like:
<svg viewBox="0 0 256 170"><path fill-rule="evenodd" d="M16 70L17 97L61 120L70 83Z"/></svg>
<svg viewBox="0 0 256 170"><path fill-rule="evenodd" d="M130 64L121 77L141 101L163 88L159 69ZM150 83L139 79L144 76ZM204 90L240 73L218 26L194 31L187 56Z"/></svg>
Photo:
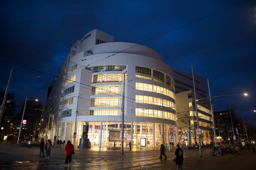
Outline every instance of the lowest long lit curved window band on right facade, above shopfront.
<svg viewBox="0 0 256 170"><path fill-rule="evenodd" d="M161 110L153 110L153 109L143 110L142 108L136 108L136 111L135 111L135 116L141 116L141 117L162 118L162 114L163 113ZM176 116L173 113L164 111L164 119L176 120Z"/></svg>

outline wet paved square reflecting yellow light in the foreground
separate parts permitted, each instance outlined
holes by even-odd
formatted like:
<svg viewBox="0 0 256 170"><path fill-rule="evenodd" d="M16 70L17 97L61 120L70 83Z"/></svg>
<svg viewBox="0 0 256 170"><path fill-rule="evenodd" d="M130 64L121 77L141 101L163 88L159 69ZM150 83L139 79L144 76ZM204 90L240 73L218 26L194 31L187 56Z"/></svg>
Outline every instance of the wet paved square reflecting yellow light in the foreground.
<svg viewBox="0 0 256 170"><path fill-rule="evenodd" d="M133 148L133 151L127 148L124 155L121 150L79 149L72 155L72 166L66 167L63 148L52 147L50 159L45 159L39 157L39 148L20 147L15 141L0 143L0 169L177 169L174 152L166 151L167 159L158 159L158 148ZM183 169L255 169L256 154L252 151L217 157L207 156L207 150L202 150L203 157L199 157L199 150L184 151Z"/></svg>

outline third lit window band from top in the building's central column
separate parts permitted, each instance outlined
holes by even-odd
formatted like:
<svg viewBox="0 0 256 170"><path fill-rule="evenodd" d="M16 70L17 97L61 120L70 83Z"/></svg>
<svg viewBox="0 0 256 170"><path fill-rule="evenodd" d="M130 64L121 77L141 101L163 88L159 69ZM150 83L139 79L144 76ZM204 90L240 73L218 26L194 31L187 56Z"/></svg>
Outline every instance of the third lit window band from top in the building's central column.
<svg viewBox="0 0 256 170"><path fill-rule="evenodd" d="M91 99L91 107L119 107L120 98L99 97Z"/></svg>

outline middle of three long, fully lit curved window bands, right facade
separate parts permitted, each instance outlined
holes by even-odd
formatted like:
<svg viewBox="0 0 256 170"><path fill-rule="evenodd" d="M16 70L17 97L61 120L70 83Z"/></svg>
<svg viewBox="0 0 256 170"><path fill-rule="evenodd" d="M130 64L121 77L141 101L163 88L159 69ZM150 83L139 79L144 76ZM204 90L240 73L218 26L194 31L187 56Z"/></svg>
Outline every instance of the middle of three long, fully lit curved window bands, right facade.
<svg viewBox="0 0 256 170"><path fill-rule="evenodd" d="M152 96L142 96L142 95L135 95L136 103L146 103L146 104L155 104L162 106L162 99L161 98L155 98ZM168 100L163 100L163 105L165 107L174 107L175 104ZM175 109L175 108L173 108Z"/></svg>

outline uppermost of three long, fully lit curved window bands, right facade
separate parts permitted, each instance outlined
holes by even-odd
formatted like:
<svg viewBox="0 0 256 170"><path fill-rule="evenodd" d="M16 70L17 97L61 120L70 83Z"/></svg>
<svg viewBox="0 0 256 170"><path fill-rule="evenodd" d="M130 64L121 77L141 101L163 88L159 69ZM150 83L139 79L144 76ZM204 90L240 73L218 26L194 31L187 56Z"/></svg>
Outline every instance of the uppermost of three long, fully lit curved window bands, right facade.
<svg viewBox="0 0 256 170"><path fill-rule="evenodd" d="M153 84L136 82L135 88L136 88L136 90L151 91L151 92L161 93L161 94L163 92L164 95L167 95L167 96L175 99L175 94L172 91L170 91L166 88L160 87L160 86L155 86Z"/></svg>

